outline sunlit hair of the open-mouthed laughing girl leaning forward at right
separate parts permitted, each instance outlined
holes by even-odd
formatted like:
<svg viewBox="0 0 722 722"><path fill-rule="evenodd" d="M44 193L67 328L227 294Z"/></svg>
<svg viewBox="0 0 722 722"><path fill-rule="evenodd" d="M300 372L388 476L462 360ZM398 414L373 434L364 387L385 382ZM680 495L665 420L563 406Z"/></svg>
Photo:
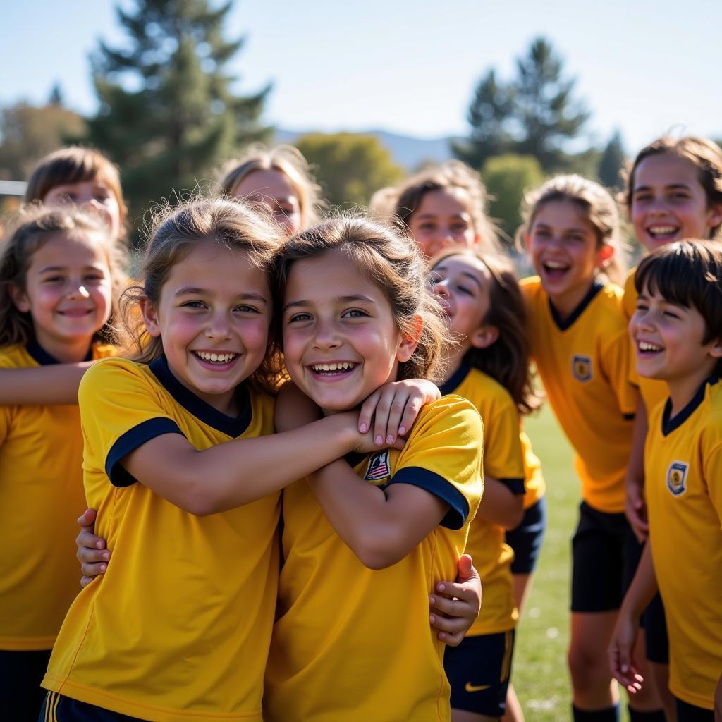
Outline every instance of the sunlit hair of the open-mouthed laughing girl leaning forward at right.
<svg viewBox="0 0 722 722"><path fill-rule="evenodd" d="M517 243L521 245L524 235L530 232L534 218L541 208L559 201L572 203L583 213L594 229L598 248L609 245L614 249L612 257L601 270L610 281L624 284L627 270L625 246L622 243L617 204L606 188L581 175L554 176L540 188L524 196L523 223L516 232Z"/></svg>

